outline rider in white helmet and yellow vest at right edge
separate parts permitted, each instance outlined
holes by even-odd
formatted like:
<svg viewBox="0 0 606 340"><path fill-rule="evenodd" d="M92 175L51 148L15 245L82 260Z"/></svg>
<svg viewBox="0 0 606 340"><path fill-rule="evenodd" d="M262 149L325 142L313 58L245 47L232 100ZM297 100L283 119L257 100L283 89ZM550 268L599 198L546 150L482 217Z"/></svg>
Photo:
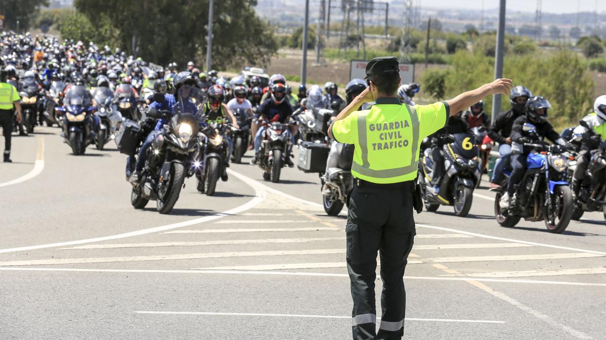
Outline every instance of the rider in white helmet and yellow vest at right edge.
<svg viewBox="0 0 606 340"><path fill-rule="evenodd" d="M574 197L579 196L581 182L591 159L591 150L598 148L606 138L606 95L599 96L593 102L593 112L581 119L584 124L574 128L575 135L582 135L581 151L576 158L576 168L573 172L572 191Z"/></svg>

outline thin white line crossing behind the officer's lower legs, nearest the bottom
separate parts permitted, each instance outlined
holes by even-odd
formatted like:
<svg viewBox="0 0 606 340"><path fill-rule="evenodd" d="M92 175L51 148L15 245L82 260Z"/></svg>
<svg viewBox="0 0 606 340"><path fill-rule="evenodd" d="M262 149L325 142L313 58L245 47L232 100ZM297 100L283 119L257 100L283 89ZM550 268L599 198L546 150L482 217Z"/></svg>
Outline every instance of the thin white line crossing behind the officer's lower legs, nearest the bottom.
<svg viewBox="0 0 606 340"><path fill-rule="evenodd" d="M162 315L221 315L221 316L272 316L277 318L317 318L317 319L351 319L351 316L331 315L303 315L303 314L269 314L269 313L219 313L219 312L159 312L148 310L137 310L138 314L162 314ZM381 318L378 318L381 319ZM465 320L465 319L421 319L405 318L406 321L438 321L438 322L473 322L481 324L504 324L505 321L496 320Z"/></svg>

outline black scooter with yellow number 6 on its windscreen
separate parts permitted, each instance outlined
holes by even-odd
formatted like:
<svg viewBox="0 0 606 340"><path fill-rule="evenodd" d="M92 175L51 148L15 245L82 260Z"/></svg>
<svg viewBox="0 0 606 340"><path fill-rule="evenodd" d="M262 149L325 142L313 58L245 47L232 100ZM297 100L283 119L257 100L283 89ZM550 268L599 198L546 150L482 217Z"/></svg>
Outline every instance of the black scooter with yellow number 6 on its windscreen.
<svg viewBox="0 0 606 340"><path fill-rule="evenodd" d="M435 212L440 205L452 205L454 215L467 216L473 201L473 190L478 187L482 176L478 146L474 145L475 136L457 133L437 138L442 139L441 152L444 153L444 177L438 185L438 192L434 192L431 185L435 175L431 148L425 148L424 156L419 159L419 172L423 175L419 176L419 185L425 208Z"/></svg>

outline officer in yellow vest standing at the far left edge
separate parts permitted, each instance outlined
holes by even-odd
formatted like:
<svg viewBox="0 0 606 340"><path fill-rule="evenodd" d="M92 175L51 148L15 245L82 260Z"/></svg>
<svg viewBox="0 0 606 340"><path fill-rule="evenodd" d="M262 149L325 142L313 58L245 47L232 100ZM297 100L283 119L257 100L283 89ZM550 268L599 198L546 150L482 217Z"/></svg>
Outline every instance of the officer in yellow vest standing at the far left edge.
<svg viewBox="0 0 606 340"><path fill-rule="evenodd" d="M8 72L0 72L0 125L2 125L2 135L4 135L4 162L11 163L10 160L10 138L13 132L13 106L17 108L17 122L21 123L21 105L19 104L19 92L8 84Z"/></svg>

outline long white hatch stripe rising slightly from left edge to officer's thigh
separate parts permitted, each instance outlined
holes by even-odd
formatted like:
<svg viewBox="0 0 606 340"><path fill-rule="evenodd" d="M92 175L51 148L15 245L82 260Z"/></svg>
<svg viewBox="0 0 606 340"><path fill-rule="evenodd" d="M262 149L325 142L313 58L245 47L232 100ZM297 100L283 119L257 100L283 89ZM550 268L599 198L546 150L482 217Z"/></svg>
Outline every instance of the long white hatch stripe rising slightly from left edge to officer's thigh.
<svg viewBox="0 0 606 340"><path fill-rule="evenodd" d="M286 256L286 255L324 255L342 254L345 249L310 249L310 250L268 250L264 252L222 252L222 253L192 253L173 255L142 255L142 256L118 256L113 258L71 258L71 259L39 259L39 260L17 260L1 261L0 266L10 265L52 265L52 264L74 264L74 263L100 263L100 262L133 262L133 261L165 261L182 259L216 259L216 258L240 258L248 256Z"/></svg>

